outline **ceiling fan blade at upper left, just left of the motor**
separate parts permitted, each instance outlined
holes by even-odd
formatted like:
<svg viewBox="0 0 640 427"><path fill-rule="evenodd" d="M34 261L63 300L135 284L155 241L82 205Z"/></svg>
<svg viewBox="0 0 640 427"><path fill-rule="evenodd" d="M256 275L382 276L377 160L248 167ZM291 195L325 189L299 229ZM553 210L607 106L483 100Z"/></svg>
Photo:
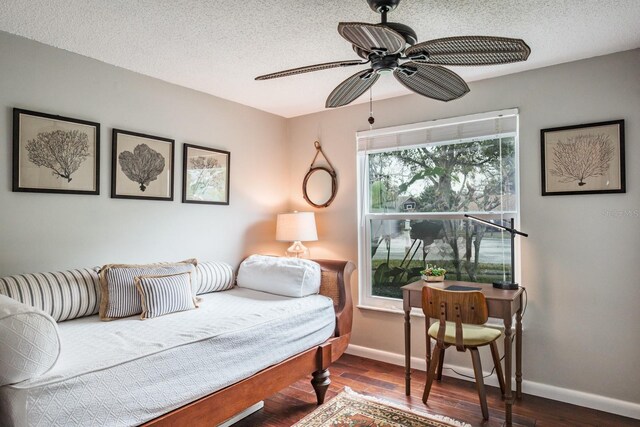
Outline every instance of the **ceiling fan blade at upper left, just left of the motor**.
<svg viewBox="0 0 640 427"><path fill-rule="evenodd" d="M395 54L405 47L405 40L399 32L382 25L363 22L341 22L338 33L349 43L373 52L383 50L386 54Z"/></svg>

